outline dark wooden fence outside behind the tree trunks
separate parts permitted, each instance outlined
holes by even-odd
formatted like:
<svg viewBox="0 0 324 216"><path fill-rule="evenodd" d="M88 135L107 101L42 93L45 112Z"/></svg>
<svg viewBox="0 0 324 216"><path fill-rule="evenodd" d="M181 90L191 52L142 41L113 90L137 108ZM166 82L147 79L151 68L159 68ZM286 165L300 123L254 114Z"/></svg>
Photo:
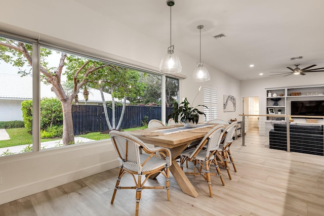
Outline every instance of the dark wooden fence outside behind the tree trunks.
<svg viewBox="0 0 324 216"><path fill-rule="evenodd" d="M115 109L115 123L119 122L121 109ZM112 109L107 107L110 123L112 122ZM167 107L166 117L173 112ZM120 129L142 126L142 121L148 116L151 119L161 119L161 107L156 106L126 106ZM91 132L104 132L108 130L105 113L101 105L72 105L72 119L74 135L88 134Z"/></svg>

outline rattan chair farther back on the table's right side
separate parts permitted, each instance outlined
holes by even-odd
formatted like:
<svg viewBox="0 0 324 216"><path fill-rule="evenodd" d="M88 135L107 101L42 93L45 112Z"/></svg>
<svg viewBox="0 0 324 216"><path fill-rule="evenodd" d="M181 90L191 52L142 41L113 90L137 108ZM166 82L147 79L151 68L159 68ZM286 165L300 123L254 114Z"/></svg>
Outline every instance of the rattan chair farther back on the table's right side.
<svg viewBox="0 0 324 216"><path fill-rule="evenodd" d="M228 162L233 164L233 168L234 168L234 171L236 172L236 167L235 167L235 164L234 164L234 160L233 160L233 157L231 155L231 152L229 150L232 142L233 142L233 137L234 137L234 133L236 131L236 127L237 127L237 122L233 122L231 124L229 124L225 130L224 130L224 141L222 141L222 143L220 144L219 148L220 150L218 152L221 152L221 154L218 154L222 156L222 158L218 158L219 160L218 163L221 164L221 166L225 169L227 169L227 174L228 174L228 177L229 179L232 179L231 178L231 175L230 175L230 172L229 172L229 166L228 166ZM230 161L228 161L228 158L230 159Z"/></svg>

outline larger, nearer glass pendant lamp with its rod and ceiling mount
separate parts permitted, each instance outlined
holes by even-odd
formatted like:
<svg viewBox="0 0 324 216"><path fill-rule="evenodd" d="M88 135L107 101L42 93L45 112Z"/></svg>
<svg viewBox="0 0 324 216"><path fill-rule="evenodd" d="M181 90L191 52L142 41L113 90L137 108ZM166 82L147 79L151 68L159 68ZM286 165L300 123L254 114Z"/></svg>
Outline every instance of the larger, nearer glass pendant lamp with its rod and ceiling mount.
<svg viewBox="0 0 324 216"><path fill-rule="evenodd" d="M174 1L168 0L167 5L170 6L170 47L168 47L167 55L161 60L159 71L179 73L182 70L181 62L179 57L174 54L174 45L171 43L171 7L174 6Z"/></svg>

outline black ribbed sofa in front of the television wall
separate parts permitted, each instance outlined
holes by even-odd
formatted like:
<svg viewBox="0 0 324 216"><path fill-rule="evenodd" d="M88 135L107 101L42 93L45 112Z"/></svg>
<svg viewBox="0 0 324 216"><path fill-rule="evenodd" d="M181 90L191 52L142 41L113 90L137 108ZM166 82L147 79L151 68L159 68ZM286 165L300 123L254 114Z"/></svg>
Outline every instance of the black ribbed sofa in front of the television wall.
<svg viewBox="0 0 324 216"><path fill-rule="evenodd" d="M290 124L290 151L324 156L323 125ZM287 151L287 125L274 123L269 148Z"/></svg>

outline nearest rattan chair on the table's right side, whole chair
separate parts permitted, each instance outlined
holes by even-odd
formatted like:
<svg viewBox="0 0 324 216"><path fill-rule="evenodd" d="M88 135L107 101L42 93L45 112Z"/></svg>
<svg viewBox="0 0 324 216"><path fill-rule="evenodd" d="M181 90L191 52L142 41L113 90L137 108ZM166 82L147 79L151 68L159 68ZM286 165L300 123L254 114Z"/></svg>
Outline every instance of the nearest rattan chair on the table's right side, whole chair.
<svg viewBox="0 0 324 216"><path fill-rule="evenodd" d="M225 185L223 176L219 169L215 155L218 154L219 144L223 136L224 125L219 124L211 129L200 141L196 148L188 149L180 154L180 166L183 169L185 161L193 161L193 172L185 172L186 175L203 176L209 186L210 196L213 197L211 175L220 177L222 184ZM207 144L207 146L205 146ZM206 149L204 147L207 147ZM214 163L217 174L211 174L210 166ZM199 166L199 167L198 167ZM204 168L204 171L202 171Z"/></svg>

